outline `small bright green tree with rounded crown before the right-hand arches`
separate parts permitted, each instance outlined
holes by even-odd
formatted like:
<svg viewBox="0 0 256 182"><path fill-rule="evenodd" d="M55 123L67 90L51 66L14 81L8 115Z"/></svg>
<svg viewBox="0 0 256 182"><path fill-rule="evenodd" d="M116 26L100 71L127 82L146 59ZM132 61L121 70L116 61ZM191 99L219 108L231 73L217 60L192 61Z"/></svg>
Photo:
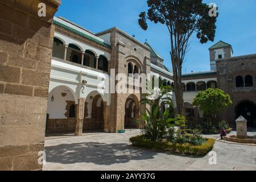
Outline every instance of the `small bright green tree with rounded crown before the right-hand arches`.
<svg viewBox="0 0 256 182"><path fill-rule="evenodd" d="M232 105L232 100L229 94L225 94L223 90L209 88L204 92L197 93L192 105L199 106L204 115L208 115L214 121L218 113Z"/></svg>

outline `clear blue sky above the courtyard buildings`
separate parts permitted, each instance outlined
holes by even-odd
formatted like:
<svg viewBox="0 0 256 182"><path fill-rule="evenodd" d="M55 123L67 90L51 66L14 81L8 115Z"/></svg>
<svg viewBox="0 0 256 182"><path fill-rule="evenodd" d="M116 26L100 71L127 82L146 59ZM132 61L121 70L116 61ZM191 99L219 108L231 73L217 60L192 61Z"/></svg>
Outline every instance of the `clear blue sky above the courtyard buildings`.
<svg viewBox="0 0 256 182"><path fill-rule="evenodd" d="M171 68L170 37L166 26L148 22L148 30L138 25L138 15L147 10L146 0L61 0L56 16L63 16L92 31L100 32L118 27L136 39L148 43L164 58ZM222 40L232 44L234 56L256 53L256 1L255 0L204 0L219 7L214 42L200 44L193 36L191 48L185 57L183 73L209 71L209 50Z"/></svg>

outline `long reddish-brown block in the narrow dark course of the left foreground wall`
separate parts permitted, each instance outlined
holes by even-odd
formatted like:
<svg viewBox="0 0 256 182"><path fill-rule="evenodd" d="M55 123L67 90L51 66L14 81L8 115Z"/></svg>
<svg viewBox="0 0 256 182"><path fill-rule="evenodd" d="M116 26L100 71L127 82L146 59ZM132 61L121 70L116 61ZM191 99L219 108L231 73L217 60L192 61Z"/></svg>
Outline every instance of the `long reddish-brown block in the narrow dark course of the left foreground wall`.
<svg viewBox="0 0 256 182"><path fill-rule="evenodd" d="M23 96L32 96L33 95L33 87L32 86L24 86L24 85L6 84L5 93L15 94L15 95L23 95Z"/></svg>

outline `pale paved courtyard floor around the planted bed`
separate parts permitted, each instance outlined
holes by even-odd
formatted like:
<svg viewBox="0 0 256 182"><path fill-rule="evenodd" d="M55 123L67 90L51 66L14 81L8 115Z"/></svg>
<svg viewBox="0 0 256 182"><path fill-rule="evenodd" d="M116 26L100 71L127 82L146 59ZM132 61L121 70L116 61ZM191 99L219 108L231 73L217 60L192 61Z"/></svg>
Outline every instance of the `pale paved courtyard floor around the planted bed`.
<svg viewBox="0 0 256 182"><path fill-rule="evenodd" d="M216 142L217 165L195 158L133 147L124 134L89 133L46 138L44 170L256 170L256 146ZM251 133L255 134L255 133ZM208 136L214 137L214 136Z"/></svg>

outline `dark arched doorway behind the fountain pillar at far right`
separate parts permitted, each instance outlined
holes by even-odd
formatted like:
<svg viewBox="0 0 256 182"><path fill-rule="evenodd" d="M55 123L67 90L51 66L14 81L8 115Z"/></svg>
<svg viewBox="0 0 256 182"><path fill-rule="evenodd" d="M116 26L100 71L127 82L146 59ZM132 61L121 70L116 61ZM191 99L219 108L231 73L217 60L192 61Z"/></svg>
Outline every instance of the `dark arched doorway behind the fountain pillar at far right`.
<svg viewBox="0 0 256 182"><path fill-rule="evenodd" d="M256 127L256 105L251 101L242 101L236 106L236 118L242 115L247 119L248 127Z"/></svg>

